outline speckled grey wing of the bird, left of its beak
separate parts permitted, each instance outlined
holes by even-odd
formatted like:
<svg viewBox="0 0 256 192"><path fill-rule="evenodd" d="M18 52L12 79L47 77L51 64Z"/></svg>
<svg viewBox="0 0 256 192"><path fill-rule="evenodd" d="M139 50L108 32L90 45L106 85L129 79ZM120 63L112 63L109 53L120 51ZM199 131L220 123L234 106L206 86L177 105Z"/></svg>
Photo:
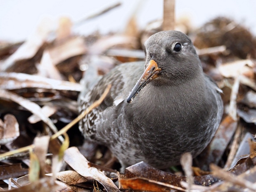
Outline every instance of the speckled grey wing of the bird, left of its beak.
<svg viewBox="0 0 256 192"><path fill-rule="evenodd" d="M80 131L86 138L92 137L97 131L98 118L103 118L102 113L114 110L114 106L119 105L124 100L126 102L129 92L139 80L144 69L144 62L123 63L103 76L86 94L80 95L79 112L81 113L98 100L105 88L111 84L111 89L100 106L93 109L80 121ZM104 123L105 120L111 121L111 119L101 119L100 122Z"/></svg>

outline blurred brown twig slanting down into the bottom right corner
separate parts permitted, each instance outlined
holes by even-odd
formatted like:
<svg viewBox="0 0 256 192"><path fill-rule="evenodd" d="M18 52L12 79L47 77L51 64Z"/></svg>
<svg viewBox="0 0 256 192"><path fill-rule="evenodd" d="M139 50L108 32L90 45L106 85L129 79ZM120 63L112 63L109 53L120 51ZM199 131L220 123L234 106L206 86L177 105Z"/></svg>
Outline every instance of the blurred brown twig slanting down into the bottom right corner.
<svg viewBox="0 0 256 192"><path fill-rule="evenodd" d="M212 170L213 175L215 175L219 178L222 178L225 181L229 181L229 182L233 183L234 185L239 185L241 187L256 191L256 186L252 182L247 181L242 177L233 175L230 172L226 172L223 169L221 169L220 167L218 167L217 165L211 164L210 168Z"/></svg>

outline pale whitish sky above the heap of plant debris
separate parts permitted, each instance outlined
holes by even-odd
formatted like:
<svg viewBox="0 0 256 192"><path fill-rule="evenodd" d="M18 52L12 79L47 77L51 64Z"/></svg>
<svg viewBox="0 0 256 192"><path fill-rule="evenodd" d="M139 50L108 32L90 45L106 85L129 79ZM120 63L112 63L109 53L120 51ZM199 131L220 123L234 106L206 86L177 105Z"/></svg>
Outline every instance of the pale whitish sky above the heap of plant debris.
<svg viewBox="0 0 256 192"><path fill-rule="evenodd" d="M43 17L50 17L57 23L59 17L68 16L75 23L115 2L122 2L122 5L74 27L74 32L122 31L136 9L141 28L163 16L163 0L0 0L0 41L26 39ZM255 10L256 0L176 0L175 14L176 18L189 16L195 27L216 16L227 16L244 24L256 35Z"/></svg>

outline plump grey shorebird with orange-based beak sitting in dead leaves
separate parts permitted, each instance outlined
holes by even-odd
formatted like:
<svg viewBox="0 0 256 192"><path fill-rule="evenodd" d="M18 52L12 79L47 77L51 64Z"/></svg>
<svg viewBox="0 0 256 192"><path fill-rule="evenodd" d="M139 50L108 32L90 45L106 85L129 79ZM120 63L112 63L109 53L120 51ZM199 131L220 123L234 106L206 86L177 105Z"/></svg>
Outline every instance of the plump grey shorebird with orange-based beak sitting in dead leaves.
<svg viewBox="0 0 256 192"><path fill-rule="evenodd" d="M80 96L79 112L104 101L79 123L88 141L107 146L122 169L144 161L166 169L209 144L223 115L221 89L204 74L191 39L161 31L144 43L145 62L120 64Z"/></svg>

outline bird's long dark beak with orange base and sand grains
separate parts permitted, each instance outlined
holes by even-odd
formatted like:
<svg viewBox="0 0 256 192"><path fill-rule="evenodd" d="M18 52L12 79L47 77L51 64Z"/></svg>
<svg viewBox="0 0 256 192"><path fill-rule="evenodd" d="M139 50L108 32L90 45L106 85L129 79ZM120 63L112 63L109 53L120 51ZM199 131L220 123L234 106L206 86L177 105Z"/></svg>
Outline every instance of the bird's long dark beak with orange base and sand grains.
<svg viewBox="0 0 256 192"><path fill-rule="evenodd" d="M145 69L144 73L140 77L139 81L133 87L133 90L130 92L127 103L130 103L133 98L145 87L149 82L158 77L158 73L161 71L161 68L158 68L157 63L154 60L150 60L148 67Z"/></svg>

